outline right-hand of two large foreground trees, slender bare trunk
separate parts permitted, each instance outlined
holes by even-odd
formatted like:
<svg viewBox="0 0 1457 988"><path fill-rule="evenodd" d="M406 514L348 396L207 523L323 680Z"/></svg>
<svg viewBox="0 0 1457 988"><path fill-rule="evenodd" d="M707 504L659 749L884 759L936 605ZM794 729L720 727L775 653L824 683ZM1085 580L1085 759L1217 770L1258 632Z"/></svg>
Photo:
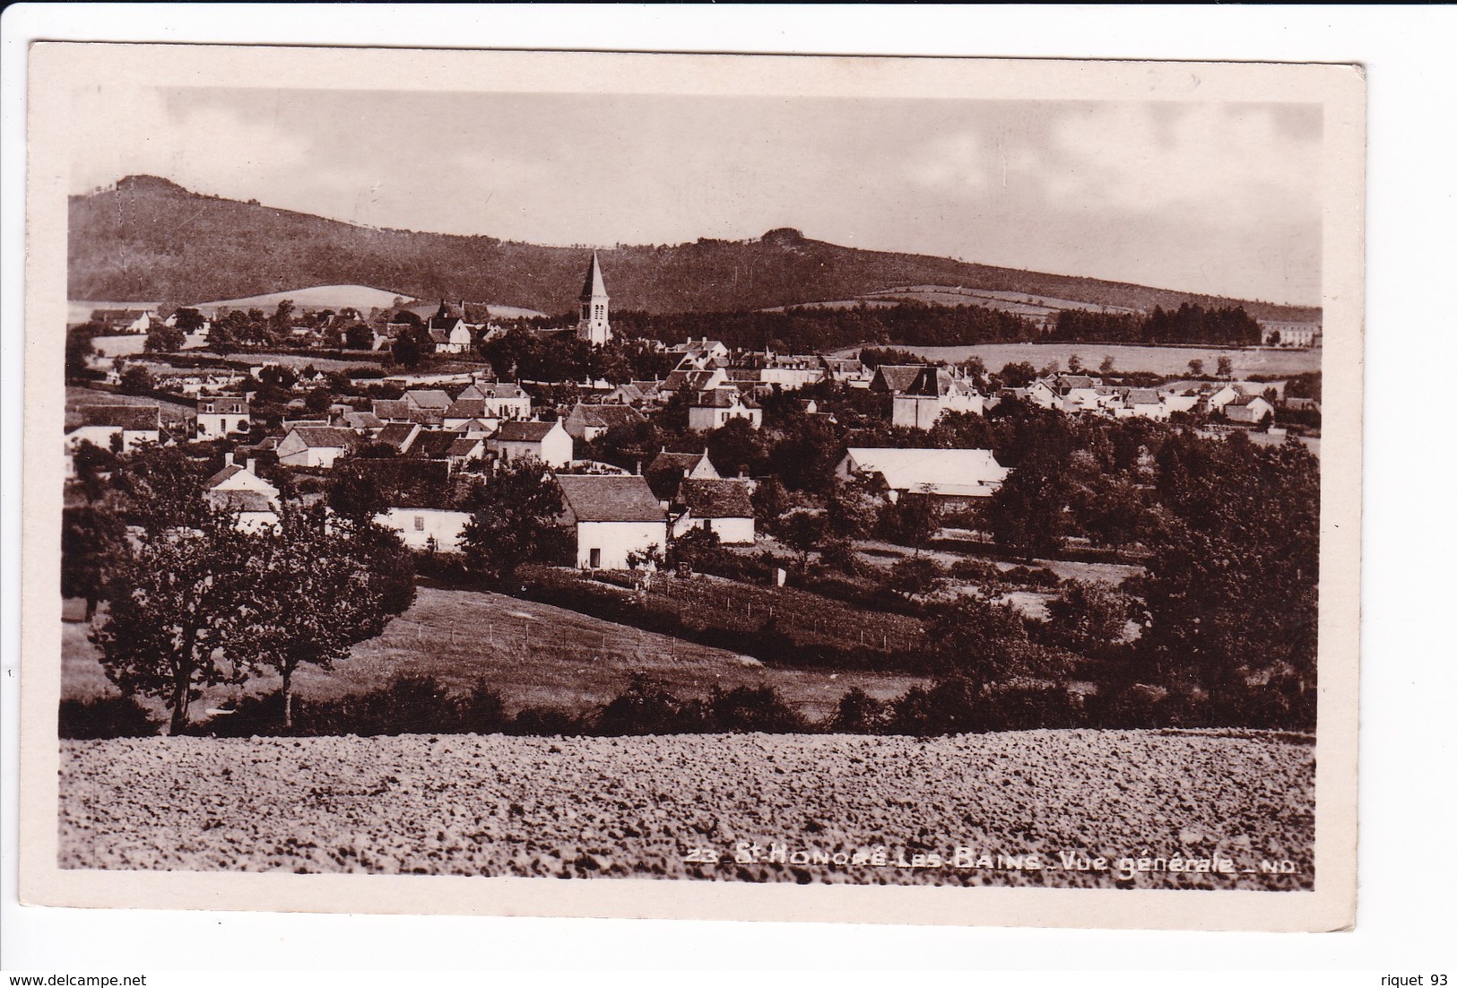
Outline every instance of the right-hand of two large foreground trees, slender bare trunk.
<svg viewBox="0 0 1457 988"><path fill-rule="evenodd" d="M277 530L255 536L261 551L229 647L249 667L278 673L288 730L299 667L332 669L354 644L379 635L393 612L372 568L376 554L360 552L363 532L332 529L318 507L286 506L278 520Z"/></svg>

